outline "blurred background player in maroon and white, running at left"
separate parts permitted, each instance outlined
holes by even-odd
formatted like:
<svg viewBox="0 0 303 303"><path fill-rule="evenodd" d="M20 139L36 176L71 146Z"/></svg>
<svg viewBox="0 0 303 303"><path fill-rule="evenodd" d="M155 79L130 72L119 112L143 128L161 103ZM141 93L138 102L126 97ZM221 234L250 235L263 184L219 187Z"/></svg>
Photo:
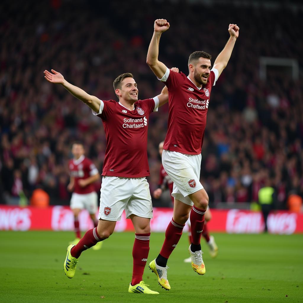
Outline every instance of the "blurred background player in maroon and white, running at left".
<svg viewBox="0 0 303 303"><path fill-rule="evenodd" d="M94 226L98 225L96 218L98 196L94 189L94 182L99 180L100 175L95 164L85 157L82 143L75 142L72 145L72 154L74 158L68 163L70 182L67 188L73 191L70 207L74 214L76 238L69 244L77 244L81 238L78 215L82 209L89 212ZM102 242L99 242L93 249L101 248L101 244Z"/></svg>

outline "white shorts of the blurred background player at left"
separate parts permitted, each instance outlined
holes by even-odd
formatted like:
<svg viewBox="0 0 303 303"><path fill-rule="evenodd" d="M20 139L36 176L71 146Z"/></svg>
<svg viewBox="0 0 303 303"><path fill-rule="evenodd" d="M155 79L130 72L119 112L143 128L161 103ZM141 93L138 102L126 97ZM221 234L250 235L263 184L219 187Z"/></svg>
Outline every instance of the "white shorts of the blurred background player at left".
<svg viewBox="0 0 303 303"><path fill-rule="evenodd" d="M89 194L72 194L71 205L72 209L80 208L87 209L90 214L95 214L98 209L98 195L95 191Z"/></svg>

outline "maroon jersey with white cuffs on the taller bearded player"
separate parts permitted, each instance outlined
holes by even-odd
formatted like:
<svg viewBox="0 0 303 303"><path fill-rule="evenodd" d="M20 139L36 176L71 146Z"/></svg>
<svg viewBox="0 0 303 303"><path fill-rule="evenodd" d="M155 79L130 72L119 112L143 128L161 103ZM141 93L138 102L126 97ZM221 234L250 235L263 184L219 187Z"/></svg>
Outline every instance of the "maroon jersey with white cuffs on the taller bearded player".
<svg viewBox="0 0 303 303"><path fill-rule="evenodd" d="M215 72L218 75L216 69L211 70L206 85L199 89L182 72L172 72L167 68L161 79L169 92L168 130L164 149L188 155L201 154Z"/></svg>

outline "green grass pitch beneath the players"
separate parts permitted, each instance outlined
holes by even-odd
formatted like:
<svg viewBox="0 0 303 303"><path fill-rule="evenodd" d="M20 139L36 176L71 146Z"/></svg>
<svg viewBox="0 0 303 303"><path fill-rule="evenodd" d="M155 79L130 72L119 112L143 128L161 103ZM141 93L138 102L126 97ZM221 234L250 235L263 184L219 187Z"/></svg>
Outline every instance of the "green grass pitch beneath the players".
<svg viewBox="0 0 303 303"><path fill-rule="evenodd" d="M211 259L205 247L206 274L199 276L183 263L188 257L185 234L168 263L170 291L145 269L145 283L160 292L156 297L128 293L132 233L114 233L100 251L85 251L75 277L68 279L63 261L72 237L71 232L1 231L0 302L303 301L303 235L215 234L219 255ZM151 235L148 262L158 255L163 237Z"/></svg>

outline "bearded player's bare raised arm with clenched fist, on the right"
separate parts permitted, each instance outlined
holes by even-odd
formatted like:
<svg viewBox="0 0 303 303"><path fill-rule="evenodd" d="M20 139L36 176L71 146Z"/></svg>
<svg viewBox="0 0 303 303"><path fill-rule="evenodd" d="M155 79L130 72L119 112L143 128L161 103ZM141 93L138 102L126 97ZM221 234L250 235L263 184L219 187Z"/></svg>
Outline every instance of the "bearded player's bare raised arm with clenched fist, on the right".
<svg viewBox="0 0 303 303"><path fill-rule="evenodd" d="M236 40L239 36L239 27L236 24L230 24L228 28L228 32L230 34L230 37L221 51L221 53L218 55L218 57L215 60L214 68L216 68L219 72L219 76L221 75L221 72L226 67L228 60L231 56L232 50L235 46Z"/></svg>

